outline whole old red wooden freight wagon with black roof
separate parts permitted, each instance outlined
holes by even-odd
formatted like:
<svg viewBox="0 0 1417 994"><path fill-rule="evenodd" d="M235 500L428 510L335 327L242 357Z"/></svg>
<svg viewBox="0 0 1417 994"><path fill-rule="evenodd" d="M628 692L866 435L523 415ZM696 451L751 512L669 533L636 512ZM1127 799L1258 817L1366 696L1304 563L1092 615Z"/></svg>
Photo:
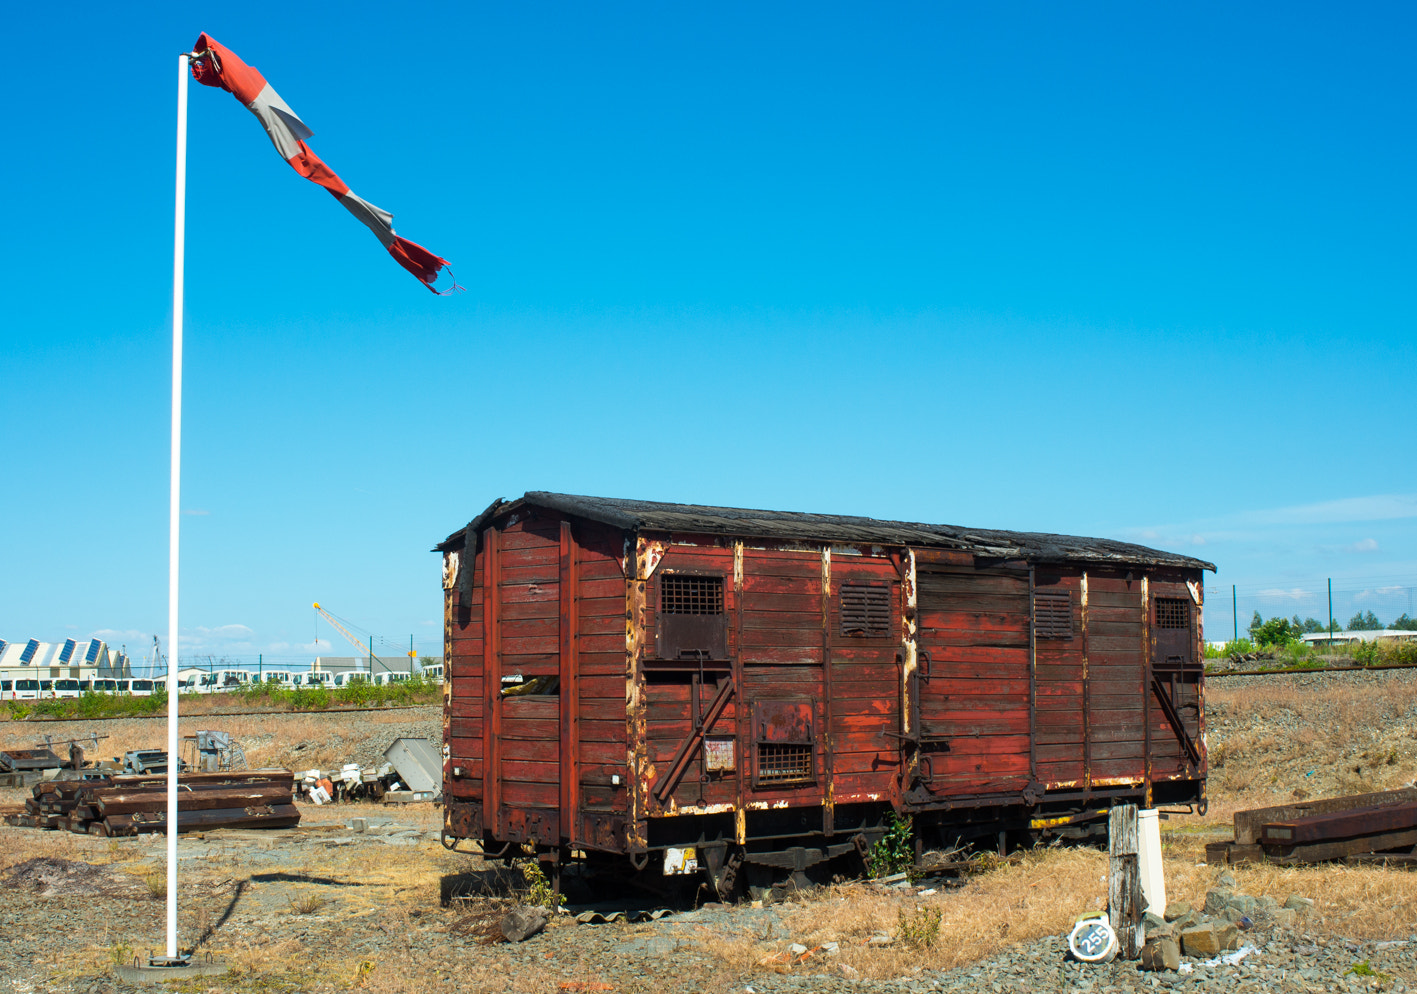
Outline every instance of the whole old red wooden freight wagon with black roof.
<svg viewBox="0 0 1417 994"><path fill-rule="evenodd" d="M727 896L888 812L1003 845L1204 804L1196 559L564 493L438 549L448 844L699 866Z"/></svg>

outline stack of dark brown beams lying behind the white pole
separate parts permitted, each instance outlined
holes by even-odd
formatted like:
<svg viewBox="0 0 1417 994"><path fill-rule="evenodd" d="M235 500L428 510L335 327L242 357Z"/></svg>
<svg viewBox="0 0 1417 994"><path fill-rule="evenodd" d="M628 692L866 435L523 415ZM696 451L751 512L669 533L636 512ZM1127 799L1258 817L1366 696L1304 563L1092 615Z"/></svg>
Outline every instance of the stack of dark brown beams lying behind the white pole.
<svg viewBox="0 0 1417 994"><path fill-rule="evenodd" d="M289 770L183 773L177 778L177 831L293 828L300 824ZM24 814L6 824L68 830L78 835L167 831L167 777L111 777L37 783Z"/></svg>

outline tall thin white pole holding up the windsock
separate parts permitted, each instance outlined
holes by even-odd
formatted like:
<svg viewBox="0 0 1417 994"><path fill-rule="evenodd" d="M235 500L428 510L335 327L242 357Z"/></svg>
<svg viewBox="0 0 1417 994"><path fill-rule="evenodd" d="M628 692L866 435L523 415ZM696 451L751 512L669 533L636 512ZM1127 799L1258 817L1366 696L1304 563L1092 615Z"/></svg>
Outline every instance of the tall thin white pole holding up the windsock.
<svg viewBox="0 0 1417 994"><path fill-rule="evenodd" d="M167 513L167 959L177 959L177 533L181 520L181 288L187 227L187 62L177 57L177 211L173 225L173 437Z"/></svg>

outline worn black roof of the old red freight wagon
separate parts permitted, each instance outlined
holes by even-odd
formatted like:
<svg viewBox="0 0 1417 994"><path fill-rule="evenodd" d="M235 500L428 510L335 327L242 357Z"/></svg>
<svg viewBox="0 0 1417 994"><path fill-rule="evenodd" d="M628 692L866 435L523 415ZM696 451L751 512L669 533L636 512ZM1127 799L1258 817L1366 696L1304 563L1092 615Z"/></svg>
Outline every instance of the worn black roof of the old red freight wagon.
<svg viewBox="0 0 1417 994"><path fill-rule="evenodd" d="M468 527L478 533L493 518L523 506L547 508L601 522L626 532L673 532L679 535L724 535L803 542L846 542L887 546L930 546L956 549L990 559L1026 559L1036 563L1112 563L1118 566L1175 566L1214 570L1214 564L1190 556L1148 549L1112 539L1087 539L1046 532L1003 532L956 525L894 522L850 515L816 515L798 510L714 508L697 503L660 503L577 493L529 491L513 501L493 501ZM466 529L458 529L438 546L459 547Z"/></svg>

